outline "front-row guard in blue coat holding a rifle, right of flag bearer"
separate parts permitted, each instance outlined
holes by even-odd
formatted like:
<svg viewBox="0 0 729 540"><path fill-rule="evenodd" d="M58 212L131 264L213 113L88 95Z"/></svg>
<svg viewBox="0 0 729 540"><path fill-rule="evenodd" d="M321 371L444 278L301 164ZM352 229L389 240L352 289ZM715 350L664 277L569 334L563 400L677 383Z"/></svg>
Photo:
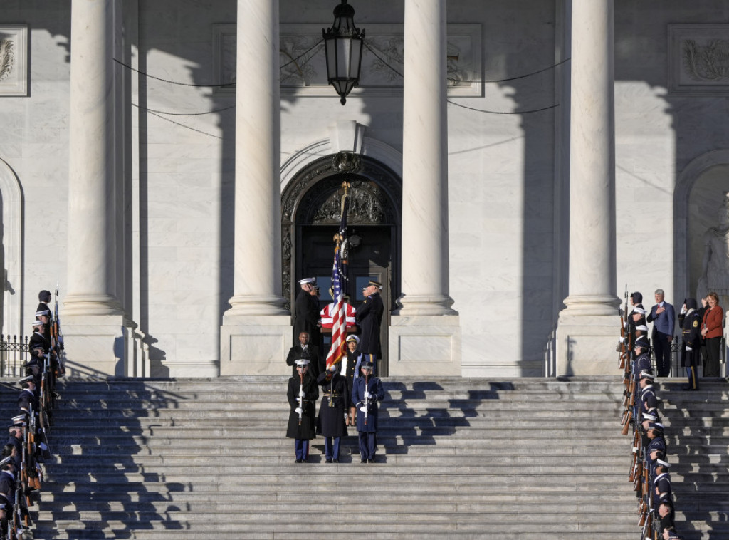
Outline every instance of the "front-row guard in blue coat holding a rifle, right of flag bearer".
<svg viewBox="0 0 729 540"><path fill-rule="evenodd" d="M378 401L385 398L382 382L373 373L373 363L362 360L362 374L354 379L352 404L357 409L357 431L359 432L359 455L361 463L375 463L377 450Z"/></svg>

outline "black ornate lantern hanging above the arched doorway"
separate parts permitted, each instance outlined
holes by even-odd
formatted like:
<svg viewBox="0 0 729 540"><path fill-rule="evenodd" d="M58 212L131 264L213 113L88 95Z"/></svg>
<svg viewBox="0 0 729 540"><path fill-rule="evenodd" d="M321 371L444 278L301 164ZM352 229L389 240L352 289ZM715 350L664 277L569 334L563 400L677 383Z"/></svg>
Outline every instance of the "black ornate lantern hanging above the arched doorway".
<svg viewBox="0 0 729 540"><path fill-rule="evenodd" d="M321 35L327 53L327 79L345 104L348 93L359 84L364 39L364 30L354 26L354 7L347 0L334 8L334 24L332 28L322 29Z"/></svg>

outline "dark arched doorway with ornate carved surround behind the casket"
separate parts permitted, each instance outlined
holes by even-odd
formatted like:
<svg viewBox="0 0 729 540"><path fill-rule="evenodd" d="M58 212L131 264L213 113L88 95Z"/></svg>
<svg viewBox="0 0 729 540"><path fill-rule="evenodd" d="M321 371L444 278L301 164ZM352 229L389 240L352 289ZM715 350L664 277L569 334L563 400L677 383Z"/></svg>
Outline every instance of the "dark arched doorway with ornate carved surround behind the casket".
<svg viewBox="0 0 729 540"><path fill-rule="evenodd" d="M338 153L309 163L286 185L281 196L284 297L292 305L297 279L316 276L321 288L321 308L330 303L332 239L339 225L340 188L344 181L351 185L348 234L354 241L349 252L346 290L356 307L364 299L362 286L369 279L383 284L383 360L378 373L386 375L389 317L400 293L402 204L402 181L389 167L367 156ZM325 350L329 343L327 336Z"/></svg>

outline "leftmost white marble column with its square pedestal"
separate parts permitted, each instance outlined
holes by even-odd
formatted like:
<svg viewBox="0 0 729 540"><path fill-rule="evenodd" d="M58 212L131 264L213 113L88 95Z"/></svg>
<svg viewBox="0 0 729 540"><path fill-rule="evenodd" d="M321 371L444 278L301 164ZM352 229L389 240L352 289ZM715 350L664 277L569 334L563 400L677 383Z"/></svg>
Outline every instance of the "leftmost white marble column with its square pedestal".
<svg viewBox="0 0 729 540"><path fill-rule="evenodd" d="M125 374L122 306L115 292L113 50L120 28L114 0L73 0L69 120L68 291L63 298L66 357L80 371ZM84 367L80 367L80 366Z"/></svg>

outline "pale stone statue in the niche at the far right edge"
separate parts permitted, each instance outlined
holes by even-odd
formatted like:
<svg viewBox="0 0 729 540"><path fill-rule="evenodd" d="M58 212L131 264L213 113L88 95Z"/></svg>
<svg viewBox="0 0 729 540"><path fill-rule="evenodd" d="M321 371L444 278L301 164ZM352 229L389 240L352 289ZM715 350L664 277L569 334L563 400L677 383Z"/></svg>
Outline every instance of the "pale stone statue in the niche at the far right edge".
<svg viewBox="0 0 729 540"><path fill-rule="evenodd" d="M722 306L727 309L729 299L729 192L724 192L718 210L719 224L703 234L703 259L701 277L698 278L696 298L707 293L717 293Z"/></svg>

